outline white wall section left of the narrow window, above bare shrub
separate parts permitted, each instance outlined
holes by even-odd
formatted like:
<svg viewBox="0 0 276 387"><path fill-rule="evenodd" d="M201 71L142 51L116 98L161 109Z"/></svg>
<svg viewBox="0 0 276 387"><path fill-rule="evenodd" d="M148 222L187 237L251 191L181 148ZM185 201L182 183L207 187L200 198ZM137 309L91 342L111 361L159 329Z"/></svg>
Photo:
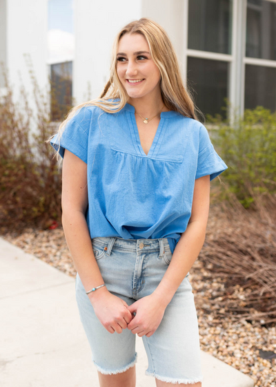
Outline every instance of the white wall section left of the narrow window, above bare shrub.
<svg viewBox="0 0 276 387"><path fill-rule="evenodd" d="M30 95L30 106L34 111L32 83L24 54L30 55L37 82L41 88L45 88L48 84L47 7L48 0L6 1L6 66L10 82L14 86L14 97L18 100L21 85L19 73L21 74L23 85Z"/></svg>

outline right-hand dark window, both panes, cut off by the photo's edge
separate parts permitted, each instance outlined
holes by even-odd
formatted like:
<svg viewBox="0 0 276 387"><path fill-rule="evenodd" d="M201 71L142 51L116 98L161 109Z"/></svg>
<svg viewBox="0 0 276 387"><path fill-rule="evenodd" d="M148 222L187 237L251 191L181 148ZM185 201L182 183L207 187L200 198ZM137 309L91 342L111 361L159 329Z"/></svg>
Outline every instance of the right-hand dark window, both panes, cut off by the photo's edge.
<svg viewBox="0 0 276 387"><path fill-rule="evenodd" d="M255 59L254 59L255 58ZM248 0L244 108L276 109L276 3Z"/></svg>

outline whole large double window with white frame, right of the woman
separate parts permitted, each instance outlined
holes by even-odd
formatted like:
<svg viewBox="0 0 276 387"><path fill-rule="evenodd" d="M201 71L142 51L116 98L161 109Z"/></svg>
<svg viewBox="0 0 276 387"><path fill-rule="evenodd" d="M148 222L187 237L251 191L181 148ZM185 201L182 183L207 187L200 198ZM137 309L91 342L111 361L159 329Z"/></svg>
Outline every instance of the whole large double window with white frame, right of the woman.
<svg viewBox="0 0 276 387"><path fill-rule="evenodd" d="M226 98L240 115L257 106L275 112L276 1L184 1L184 64L202 113L226 118Z"/></svg>

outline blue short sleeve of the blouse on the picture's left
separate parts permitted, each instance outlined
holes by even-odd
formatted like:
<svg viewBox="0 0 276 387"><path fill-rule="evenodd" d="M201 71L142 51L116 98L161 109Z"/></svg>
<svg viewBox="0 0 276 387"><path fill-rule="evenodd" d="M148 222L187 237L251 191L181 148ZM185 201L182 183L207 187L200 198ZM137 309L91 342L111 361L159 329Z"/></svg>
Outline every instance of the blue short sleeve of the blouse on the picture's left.
<svg viewBox="0 0 276 387"><path fill-rule="evenodd" d="M56 151L59 150L61 158L64 157L65 149L68 149L87 164L89 124L88 114L81 108L81 111L67 122L61 135L60 149L57 134L50 140L51 146Z"/></svg>

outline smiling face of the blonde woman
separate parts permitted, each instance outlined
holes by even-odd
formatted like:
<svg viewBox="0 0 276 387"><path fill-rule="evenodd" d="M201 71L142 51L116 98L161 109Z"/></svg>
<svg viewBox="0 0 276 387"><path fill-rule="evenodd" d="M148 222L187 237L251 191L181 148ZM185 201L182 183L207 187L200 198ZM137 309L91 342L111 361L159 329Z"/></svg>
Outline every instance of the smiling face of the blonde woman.
<svg viewBox="0 0 276 387"><path fill-rule="evenodd" d="M141 34L125 34L119 40L117 74L130 98L154 98L160 93L160 73Z"/></svg>

